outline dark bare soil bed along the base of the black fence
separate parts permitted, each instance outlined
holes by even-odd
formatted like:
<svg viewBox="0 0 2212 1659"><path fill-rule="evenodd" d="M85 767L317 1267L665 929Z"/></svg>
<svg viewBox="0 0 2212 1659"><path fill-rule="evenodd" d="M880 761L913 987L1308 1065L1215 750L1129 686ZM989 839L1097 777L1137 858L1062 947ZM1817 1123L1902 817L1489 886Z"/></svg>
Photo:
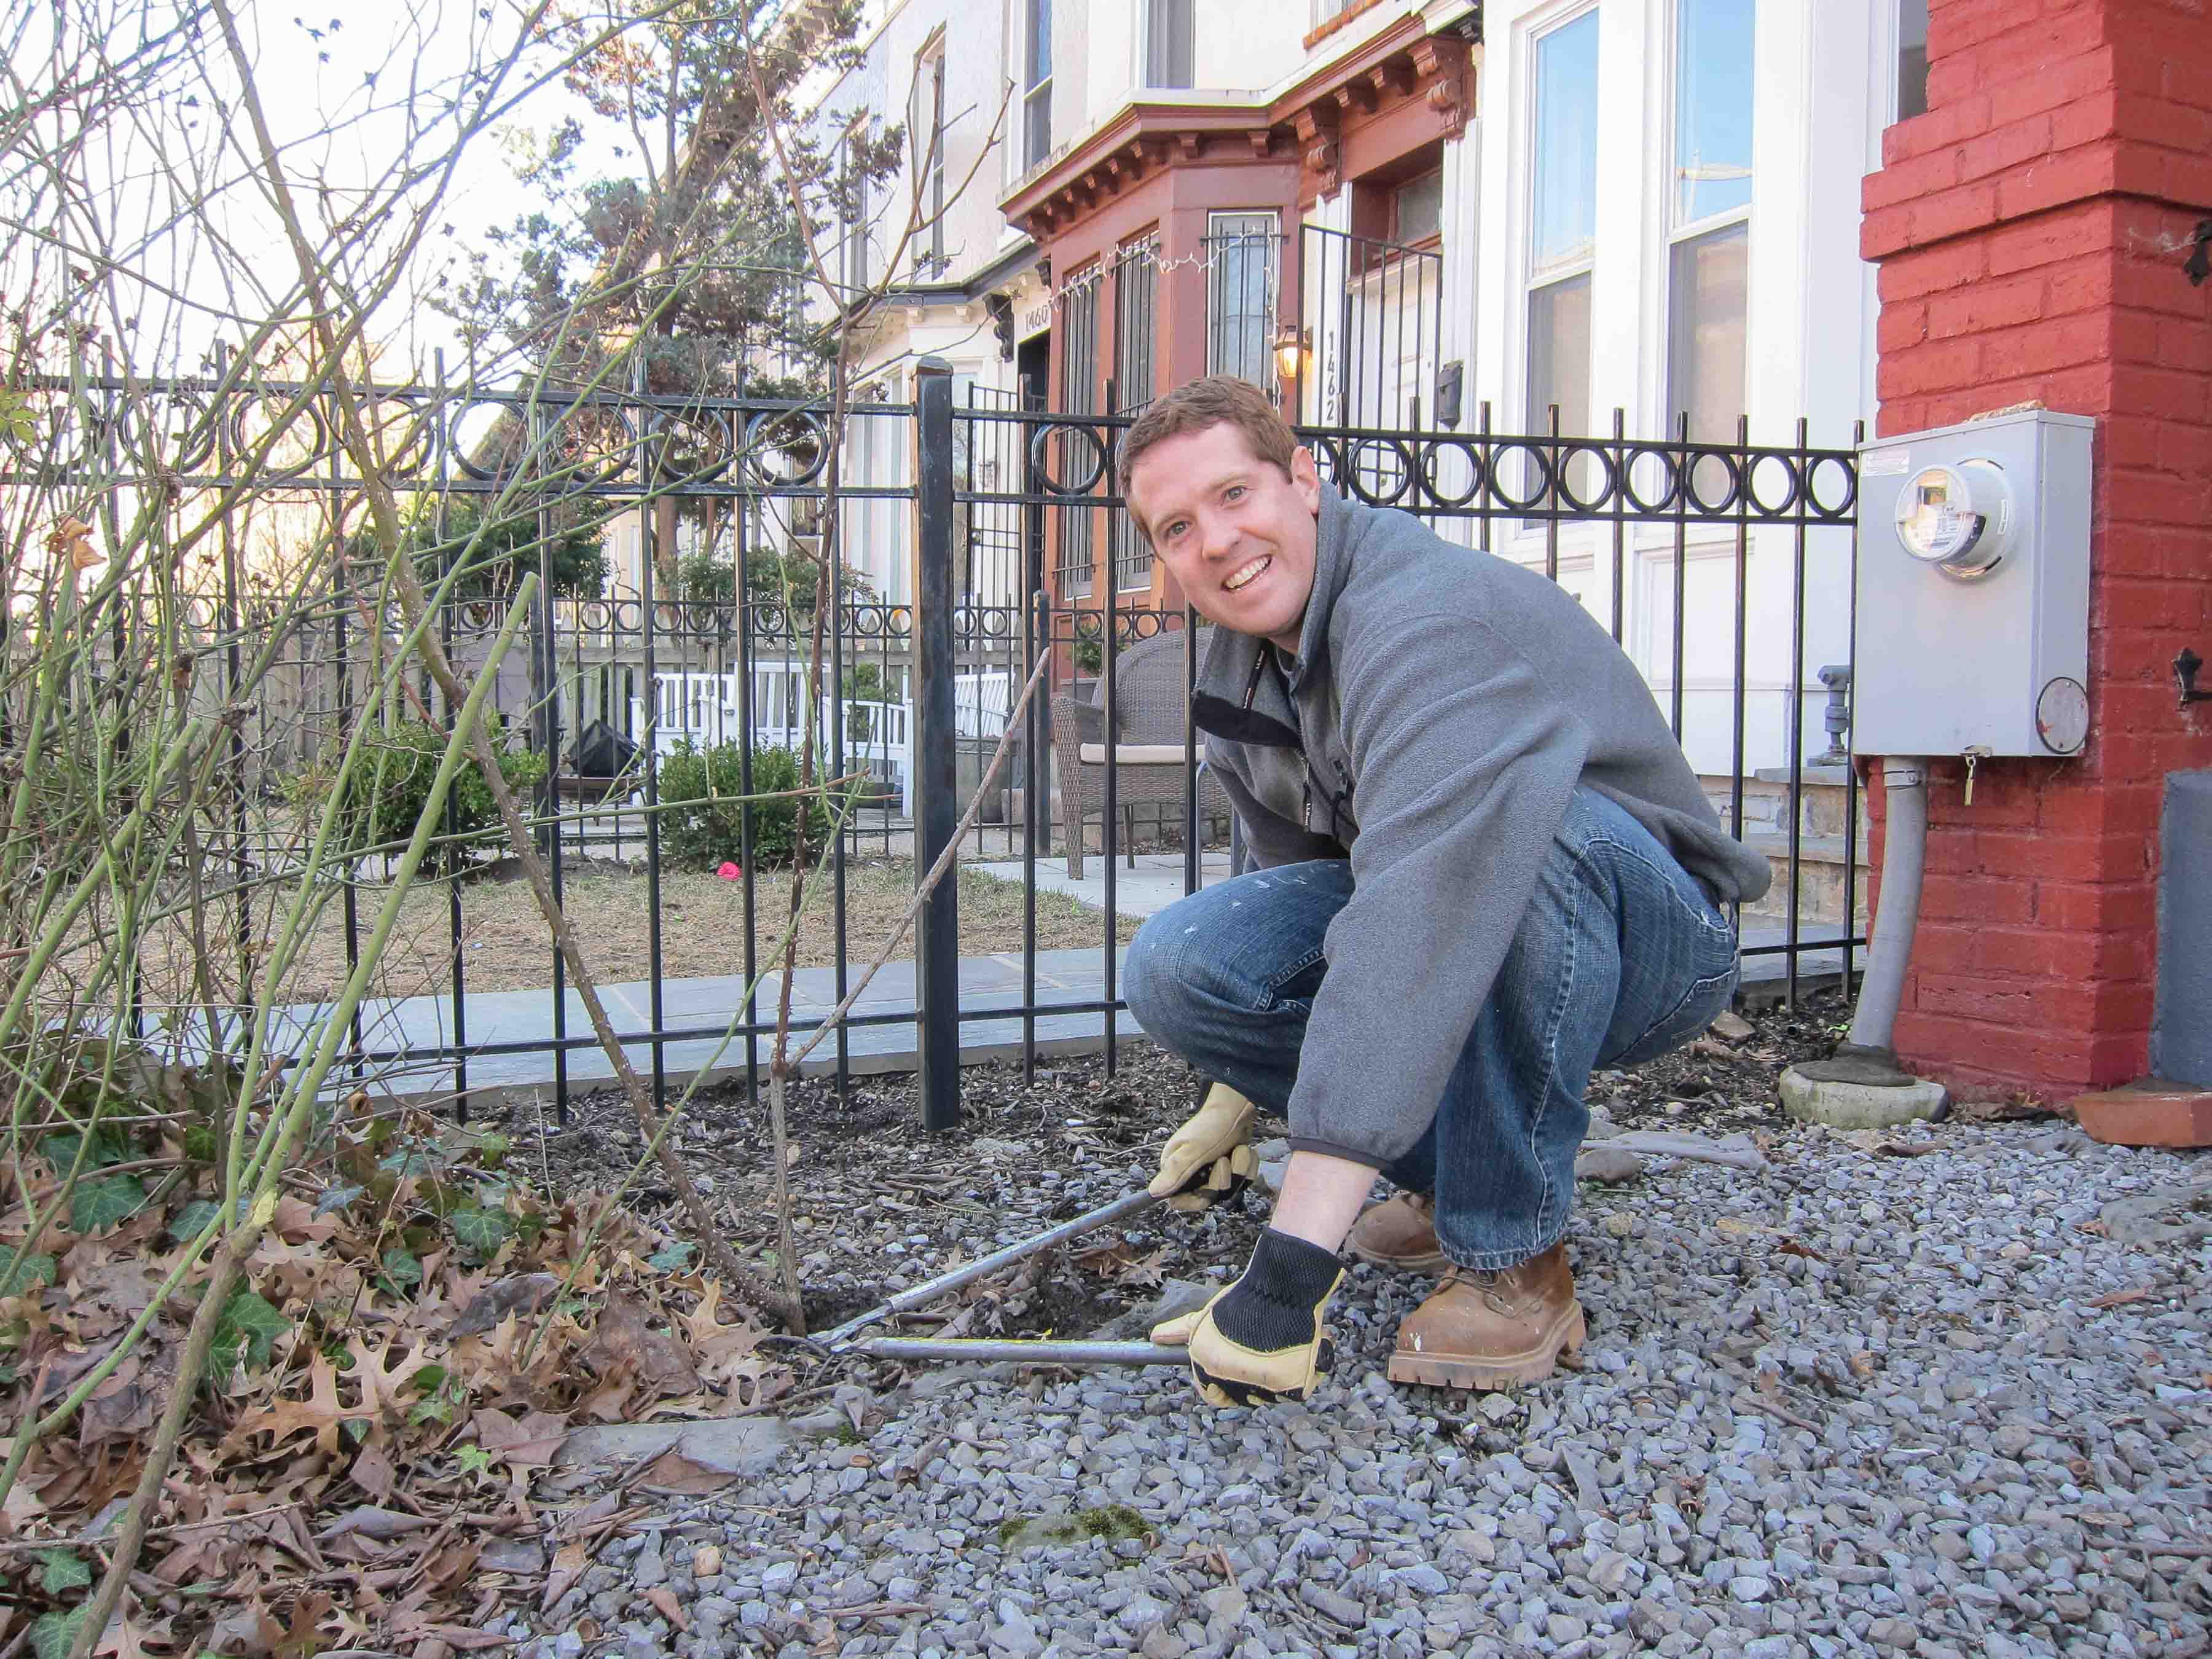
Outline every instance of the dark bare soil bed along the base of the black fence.
<svg viewBox="0 0 2212 1659"><path fill-rule="evenodd" d="M1754 1015L1741 1042L1705 1035L1635 1071L1599 1073L1590 1104L1624 1128L1778 1128L1776 1075L1832 1053L1845 1015L1832 991L1796 1011L1774 1006ZM794 1239L810 1329L1141 1186L1199 1099L1201 1079L1150 1044L1124 1044L1117 1060L1113 1075L1102 1057L1040 1062L1033 1084L1022 1082L1020 1064L969 1066L962 1121L947 1135L920 1128L909 1075L860 1077L843 1097L832 1079L792 1084ZM520 1161L551 1190L615 1186L641 1150L635 1119L613 1093L575 1102L566 1126L540 1124L533 1106L515 1106L507 1128ZM1263 1139L1281 1133L1261 1119ZM679 1150L712 1186L728 1237L763 1272L776 1272L770 1139L765 1099L754 1104L741 1084L701 1091L679 1128ZM677 1237L690 1232L653 1166L633 1201ZM905 1329L1086 1336L1152 1301L1161 1279L1234 1274L1261 1225L1259 1194L1194 1219L1152 1212L971 1285Z"/></svg>

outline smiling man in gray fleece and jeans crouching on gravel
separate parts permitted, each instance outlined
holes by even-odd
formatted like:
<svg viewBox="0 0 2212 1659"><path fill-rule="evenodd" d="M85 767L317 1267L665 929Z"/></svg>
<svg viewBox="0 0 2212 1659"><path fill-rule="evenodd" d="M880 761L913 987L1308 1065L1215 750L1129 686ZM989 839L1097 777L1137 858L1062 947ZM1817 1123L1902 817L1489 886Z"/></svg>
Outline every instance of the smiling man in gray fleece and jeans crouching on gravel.
<svg viewBox="0 0 2212 1659"><path fill-rule="evenodd" d="M1128 953L1144 1029L1219 1079L1152 1190L1290 1172L1243 1276L1155 1332L1214 1405L1305 1398L1338 1250L1440 1274L1396 1383L1495 1389L1582 1345L1562 1237L1590 1071L1697 1035L1736 984L1723 909L1767 887L1650 690L1559 586L1321 482L1225 376L1121 447L1139 529L1217 624L1194 717L1254 869ZM1398 1197L1360 1214L1376 1172Z"/></svg>

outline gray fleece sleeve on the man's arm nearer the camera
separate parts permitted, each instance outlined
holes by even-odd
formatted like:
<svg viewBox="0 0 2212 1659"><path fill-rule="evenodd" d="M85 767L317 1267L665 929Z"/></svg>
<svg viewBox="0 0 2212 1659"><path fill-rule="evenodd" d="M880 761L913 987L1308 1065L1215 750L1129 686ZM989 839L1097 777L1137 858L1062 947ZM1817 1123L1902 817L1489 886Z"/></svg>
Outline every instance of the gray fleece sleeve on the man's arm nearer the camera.
<svg viewBox="0 0 2212 1659"><path fill-rule="evenodd" d="M1535 894L1590 732L1480 622L1418 617L1338 661L1358 838L1329 925L1294 1148L1383 1168L1436 1115Z"/></svg>

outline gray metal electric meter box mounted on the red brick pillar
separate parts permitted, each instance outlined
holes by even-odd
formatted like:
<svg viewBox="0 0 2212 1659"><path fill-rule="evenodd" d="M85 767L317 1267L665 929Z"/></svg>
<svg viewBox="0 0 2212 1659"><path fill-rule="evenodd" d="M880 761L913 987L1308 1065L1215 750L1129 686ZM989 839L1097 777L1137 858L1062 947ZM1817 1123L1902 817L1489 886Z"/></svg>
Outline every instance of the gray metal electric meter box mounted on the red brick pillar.
<svg viewBox="0 0 2212 1659"><path fill-rule="evenodd" d="M1858 453L1858 754L2079 754L2086 416L2024 409Z"/></svg>

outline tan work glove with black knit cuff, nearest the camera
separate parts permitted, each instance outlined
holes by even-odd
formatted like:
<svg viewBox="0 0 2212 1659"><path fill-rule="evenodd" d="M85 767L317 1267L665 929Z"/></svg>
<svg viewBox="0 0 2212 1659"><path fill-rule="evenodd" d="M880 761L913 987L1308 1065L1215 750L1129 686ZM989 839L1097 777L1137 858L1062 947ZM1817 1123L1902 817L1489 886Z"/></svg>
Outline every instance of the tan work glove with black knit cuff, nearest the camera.
<svg viewBox="0 0 2212 1659"><path fill-rule="evenodd" d="M1321 1314L1343 1276L1334 1250L1267 1228L1234 1285L1155 1325L1152 1340L1190 1349L1190 1380L1208 1405L1303 1400L1336 1358Z"/></svg>

